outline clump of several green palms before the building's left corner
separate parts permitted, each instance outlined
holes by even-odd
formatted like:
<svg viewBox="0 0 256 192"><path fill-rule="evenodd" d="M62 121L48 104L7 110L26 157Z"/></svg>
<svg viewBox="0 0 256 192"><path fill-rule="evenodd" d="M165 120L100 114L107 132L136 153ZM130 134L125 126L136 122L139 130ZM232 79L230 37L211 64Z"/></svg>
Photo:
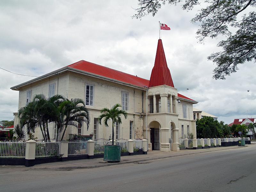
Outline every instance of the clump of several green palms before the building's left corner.
<svg viewBox="0 0 256 192"><path fill-rule="evenodd" d="M59 132L63 132L61 137L63 140L68 125L77 127L78 123L85 122L88 129L90 122L84 100L77 98L68 100L62 95L54 95L51 98L43 94L35 95L31 102L19 109L18 116L21 127L27 126L28 134L39 126L45 141L50 140L48 123L55 123L56 138L59 138Z"/></svg>

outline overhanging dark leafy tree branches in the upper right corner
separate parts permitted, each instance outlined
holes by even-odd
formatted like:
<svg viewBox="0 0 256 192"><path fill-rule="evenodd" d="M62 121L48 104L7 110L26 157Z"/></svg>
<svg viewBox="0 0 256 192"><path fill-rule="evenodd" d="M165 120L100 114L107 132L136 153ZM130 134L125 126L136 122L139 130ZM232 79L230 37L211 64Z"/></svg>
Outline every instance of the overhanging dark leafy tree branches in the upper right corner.
<svg viewBox="0 0 256 192"><path fill-rule="evenodd" d="M213 78L225 79L227 75L238 70L237 65L256 59L256 0L138 0L137 13L132 17L141 19L147 14L155 16L162 5L176 5L182 2L183 10L192 10L196 5L202 8L191 20L199 22L197 38L203 43L206 37L226 36L217 46L221 52L212 53L212 60L217 67L213 70ZM198 7L196 6L196 7ZM241 18L241 19L240 19ZM235 33L231 32L236 30Z"/></svg>

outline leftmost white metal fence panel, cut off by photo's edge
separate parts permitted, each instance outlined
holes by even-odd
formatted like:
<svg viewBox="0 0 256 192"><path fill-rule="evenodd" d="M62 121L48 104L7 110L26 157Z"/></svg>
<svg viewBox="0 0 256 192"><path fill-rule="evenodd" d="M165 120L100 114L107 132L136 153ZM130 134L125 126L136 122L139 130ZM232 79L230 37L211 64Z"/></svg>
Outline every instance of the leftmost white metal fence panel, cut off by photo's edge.
<svg viewBox="0 0 256 192"><path fill-rule="evenodd" d="M0 157L4 158L25 158L26 142L0 142Z"/></svg>

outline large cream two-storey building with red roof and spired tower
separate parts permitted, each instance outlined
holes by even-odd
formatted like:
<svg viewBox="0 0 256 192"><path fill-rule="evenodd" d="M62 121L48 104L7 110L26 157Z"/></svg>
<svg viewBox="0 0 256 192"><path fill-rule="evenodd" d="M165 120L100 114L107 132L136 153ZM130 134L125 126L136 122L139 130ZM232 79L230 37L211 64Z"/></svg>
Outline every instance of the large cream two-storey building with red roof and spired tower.
<svg viewBox="0 0 256 192"><path fill-rule="evenodd" d="M197 101L179 94L174 87L161 39L158 40L150 80L81 60L11 89L20 92L18 109L31 101L35 94L41 93L49 97L61 94L68 99L85 100L91 118L88 131L85 125L79 129L68 127L64 139L74 134L108 139L111 129L99 125L97 118L101 108L116 103L121 103L128 113L123 124L115 126L116 140L144 138L148 139L150 150L170 151L169 138L172 138L172 150L177 151L180 137L187 138L188 133L196 135L193 104ZM16 125L17 112L14 116ZM51 138L55 138L54 124L49 124L49 129ZM36 129L35 136L42 138L39 129Z"/></svg>

